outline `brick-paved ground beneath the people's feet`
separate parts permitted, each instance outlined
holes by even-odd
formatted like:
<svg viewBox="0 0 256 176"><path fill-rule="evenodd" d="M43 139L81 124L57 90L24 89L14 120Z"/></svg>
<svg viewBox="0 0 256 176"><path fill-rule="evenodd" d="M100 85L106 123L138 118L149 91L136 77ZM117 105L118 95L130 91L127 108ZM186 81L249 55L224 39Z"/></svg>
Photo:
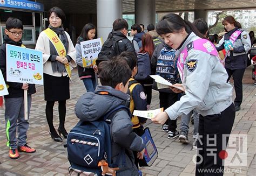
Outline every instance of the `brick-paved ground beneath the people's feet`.
<svg viewBox="0 0 256 176"><path fill-rule="evenodd" d="M233 134L247 134L247 166L230 166L230 170L237 169L241 172L225 173L224 175L255 175L256 172L256 89L251 80L252 68L248 67L243 80L244 100L241 110L236 113L233 125ZM73 73L71 83L71 98L67 101L66 130L70 130L77 122L74 114L74 106L83 93L86 92L82 81L78 79L77 71ZM21 153L21 158L12 160L8 157L6 147L4 108L0 109L0 175L68 175L69 161L66 149L62 143L54 142L48 132L48 124L45 117L45 101L43 86L36 86L37 93L33 95L30 113L30 128L28 131L29 145L37 149L36 153ZM153 90L151 109L159 108L158 92ZM57 129L58 106L55 105L54 124ZM178 129L180 118L178 118ZM196 151L192 150L193 125L190 124L188 139L189 144L181 144L178 139L170 140L167 133L161 131L160 125L147 122L154 142L157 145L159 156L151 167L141 168L146 176L150 175L194 175L195 164L192 161ZM233 171L233 170L232 170Z"/></svg>

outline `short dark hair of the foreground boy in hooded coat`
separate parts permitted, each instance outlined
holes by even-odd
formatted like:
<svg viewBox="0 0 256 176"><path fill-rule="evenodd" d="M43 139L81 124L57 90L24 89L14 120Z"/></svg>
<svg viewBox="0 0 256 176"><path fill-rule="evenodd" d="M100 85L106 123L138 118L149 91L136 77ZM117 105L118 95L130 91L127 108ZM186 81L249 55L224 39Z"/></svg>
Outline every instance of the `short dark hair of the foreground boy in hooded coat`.
<svg viewBox="0 0 256 176"><path fill-rule="evenodd" d="M121 82L125 86L132 76L131 69L120 56L100 62L98 71L102 86L111 86L112 88L115 88Z"/></svg>

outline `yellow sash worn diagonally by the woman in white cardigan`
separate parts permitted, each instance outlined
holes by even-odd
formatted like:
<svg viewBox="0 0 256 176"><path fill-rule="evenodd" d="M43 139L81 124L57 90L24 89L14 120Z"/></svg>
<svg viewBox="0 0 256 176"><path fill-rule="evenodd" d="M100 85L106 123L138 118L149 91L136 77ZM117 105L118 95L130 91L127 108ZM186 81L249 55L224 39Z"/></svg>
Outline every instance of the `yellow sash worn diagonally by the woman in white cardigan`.
<svg viewBox="0 0 256 176"><path fill-rule="evenodd" d="M55 47L56 51L58 52L60 57L66 57L66 48L63 45L62 41L60 41L58 35L52 31L50 28L44 30L44 32L46 33L46 36L49 38L49 40L51 41L52 45ZM65 64L65 69L66 69L66 73L68 73L69 75L69 79L71 80L71 69L68 64Z"/></svg>

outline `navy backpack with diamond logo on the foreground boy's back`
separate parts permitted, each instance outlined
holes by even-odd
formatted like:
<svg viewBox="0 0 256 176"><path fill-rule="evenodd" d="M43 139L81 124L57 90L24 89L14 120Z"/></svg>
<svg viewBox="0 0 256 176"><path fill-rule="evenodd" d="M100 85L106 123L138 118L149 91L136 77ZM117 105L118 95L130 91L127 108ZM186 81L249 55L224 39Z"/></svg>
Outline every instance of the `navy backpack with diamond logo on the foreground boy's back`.
<svg viewBox="0 0 256 176"><path fill-rule="evenodd" d="M107 112L101 120L98 121L79 121L77 125L69 132L67 138L68 159L71 164L69 170L78 170L85 173L95 173L102 175L102 170L98 167L100 160L104 159L109 167L118 167L112 163L112 147L110 124L112 117L116 112L126 110L130 115L130 109L124 105ZM131 116L131 115L130 115ZM125 151L119 153L118 158L124 158ZM125 163L125 161L122 161Z"/></svg>

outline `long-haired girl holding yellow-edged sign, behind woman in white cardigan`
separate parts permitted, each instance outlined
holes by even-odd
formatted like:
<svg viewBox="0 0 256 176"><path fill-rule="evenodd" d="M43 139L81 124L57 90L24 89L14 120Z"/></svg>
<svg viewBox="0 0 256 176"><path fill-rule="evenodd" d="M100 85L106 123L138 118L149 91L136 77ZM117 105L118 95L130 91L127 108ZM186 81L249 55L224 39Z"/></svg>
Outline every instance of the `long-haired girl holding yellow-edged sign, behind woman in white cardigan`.
<svg viewBox="0 0 256 176"><path fill-rule="evenodd" d="M96 89L96 77L95 72L97 72L97 65L90 65L88 67L83 67L83 60L82 60L82 51L80 43L86 40L92 40L95 38L96 35L96 27L88 23L84 25L80 36L77 38L76 44L76 62L78 65L78 76L84 82L84 86L87 91L94 91ZM92 58L92 57L91 57Z"/></svg>

